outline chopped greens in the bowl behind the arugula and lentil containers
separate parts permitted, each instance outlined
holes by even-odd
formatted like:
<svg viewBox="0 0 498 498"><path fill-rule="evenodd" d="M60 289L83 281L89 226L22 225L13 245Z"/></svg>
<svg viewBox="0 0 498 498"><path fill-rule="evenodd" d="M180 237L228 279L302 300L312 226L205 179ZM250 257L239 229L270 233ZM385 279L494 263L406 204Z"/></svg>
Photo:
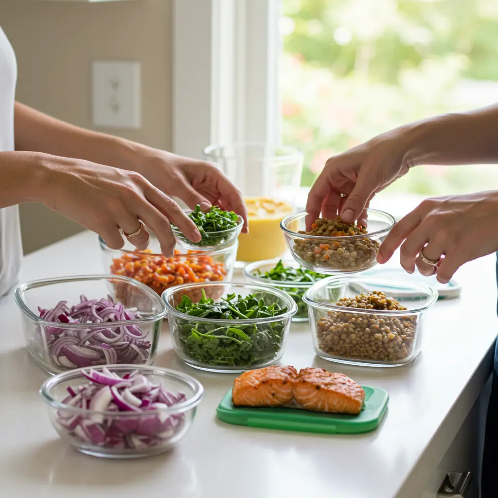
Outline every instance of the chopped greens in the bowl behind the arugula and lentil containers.
<svg viewBox="0 0 498 498"><path fill-rule="evenodd" d="M284 266L282 260L271 268L269 271L264 273L257 270L256 273L261 278L268 278L270 280L275 280L279 282L309 282L310 285L314 282L318 282L322 278L328 277L324 273L317 273L316 271L308 270L306 268L293 268L292 266ZM308 306L303 301L303 295L308 290L306 287L279 287L284 292L289 294L292 299L297 304L297 313L294 315L296 318L308 318Z"/></svg>

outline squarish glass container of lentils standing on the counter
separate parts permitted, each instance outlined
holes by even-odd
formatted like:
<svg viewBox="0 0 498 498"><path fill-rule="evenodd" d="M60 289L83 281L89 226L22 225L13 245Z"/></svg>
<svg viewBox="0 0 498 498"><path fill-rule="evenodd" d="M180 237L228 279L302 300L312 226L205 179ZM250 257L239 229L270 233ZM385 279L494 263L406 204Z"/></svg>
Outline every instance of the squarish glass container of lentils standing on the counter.
<svg viewBox="0 0 498 498"><path fill-rule="evenodd" d="M383 292L403 311L338 306L339 299ZM437 300L429 285L364 276L334 276L306 291L313 347L324 360L368 367L397 367L411 362L422 344L422 316Z"/></svg>

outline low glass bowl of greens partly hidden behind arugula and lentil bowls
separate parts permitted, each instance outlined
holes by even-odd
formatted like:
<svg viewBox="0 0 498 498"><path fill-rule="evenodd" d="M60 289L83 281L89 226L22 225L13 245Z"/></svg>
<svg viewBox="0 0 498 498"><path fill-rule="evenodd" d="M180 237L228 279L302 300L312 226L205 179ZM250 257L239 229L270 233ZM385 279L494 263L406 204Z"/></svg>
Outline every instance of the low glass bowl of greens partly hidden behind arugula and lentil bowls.
<svg viewBox="0 0 498 498"><path fill-rule="evenodd" d="M330 275L308 270L294 260L264 259L248 264L244 276L251 283L271 285L288 294L297 305L292 321L307 322L308 305L303 301L303 295L314 283Z"/></svg>

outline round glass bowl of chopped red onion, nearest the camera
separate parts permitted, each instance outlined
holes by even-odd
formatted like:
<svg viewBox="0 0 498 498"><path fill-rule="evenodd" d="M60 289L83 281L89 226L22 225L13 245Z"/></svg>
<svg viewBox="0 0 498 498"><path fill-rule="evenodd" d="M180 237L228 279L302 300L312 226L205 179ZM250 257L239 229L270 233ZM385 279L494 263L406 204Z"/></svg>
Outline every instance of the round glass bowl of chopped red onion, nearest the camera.
<svg viewBox="0 0 498 498"><path fill-rule="evenodd" d="M182 392L186 399L168 408L140 412L79 408L66 404L68 387L77 390L75 387L90 383L81 374L85 369L59 373L43 382L40 395L47 404L50 422L64 441L87 455L117 459L156 455L183 438L192 426L204 392L198 380L185 373L143 365L107 368L120 377L137 371L174 394ZM95 434L101 437L92 437Z"/></svg>

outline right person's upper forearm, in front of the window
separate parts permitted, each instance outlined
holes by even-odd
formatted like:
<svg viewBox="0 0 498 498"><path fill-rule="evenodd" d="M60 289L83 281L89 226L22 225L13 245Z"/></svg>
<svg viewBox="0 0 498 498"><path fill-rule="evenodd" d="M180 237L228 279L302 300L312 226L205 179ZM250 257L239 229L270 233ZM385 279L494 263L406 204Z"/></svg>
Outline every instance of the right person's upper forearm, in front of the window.
<svg viewBox="0 0 498 498"><path fill-rule="evenodd" d="M407 159L413 165L496 163L497 128L498 105L409 124L404 128Z"/></svg>

